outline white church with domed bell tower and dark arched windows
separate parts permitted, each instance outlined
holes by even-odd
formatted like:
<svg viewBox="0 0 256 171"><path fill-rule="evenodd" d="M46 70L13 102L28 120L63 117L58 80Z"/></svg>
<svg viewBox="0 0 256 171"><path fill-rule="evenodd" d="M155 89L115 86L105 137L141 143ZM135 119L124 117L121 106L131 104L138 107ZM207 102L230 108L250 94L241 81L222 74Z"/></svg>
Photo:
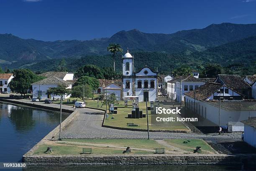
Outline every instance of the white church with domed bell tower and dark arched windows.
<svg viewBox="0 0 256 171"><path fill-rule="evenodd" d="M134 69L134 57L127 51L123 55L123 98L138 96L139 102L156 101L157 72L145 66L140 71Z"/></svg>

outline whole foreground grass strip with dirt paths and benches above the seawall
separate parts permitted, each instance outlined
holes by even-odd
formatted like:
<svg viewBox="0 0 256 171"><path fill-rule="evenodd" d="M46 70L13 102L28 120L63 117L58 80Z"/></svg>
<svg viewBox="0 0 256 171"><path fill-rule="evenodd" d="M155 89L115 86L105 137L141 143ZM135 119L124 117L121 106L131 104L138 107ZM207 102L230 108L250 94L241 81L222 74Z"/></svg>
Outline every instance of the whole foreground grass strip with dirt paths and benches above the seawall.
<svg viewBox="0 0 256 171"><path fill-rule="evenodd" d="M45 141L38 145L31 155L44 155L47 147L52 148L51 155L79 155L82 148L92 148L92 155L117 155L123 154L127 146L131 147L129 154L154 154L154 148L165 148L166 153L193 153L196 146L201 146L202 153L216 153L204 140L191 140L190 143L183 144L184 140L164 140L159 143L156 140L129 140L129 139L63 139L62 141ZM162 142L162 141L161 141Z"/></svg>

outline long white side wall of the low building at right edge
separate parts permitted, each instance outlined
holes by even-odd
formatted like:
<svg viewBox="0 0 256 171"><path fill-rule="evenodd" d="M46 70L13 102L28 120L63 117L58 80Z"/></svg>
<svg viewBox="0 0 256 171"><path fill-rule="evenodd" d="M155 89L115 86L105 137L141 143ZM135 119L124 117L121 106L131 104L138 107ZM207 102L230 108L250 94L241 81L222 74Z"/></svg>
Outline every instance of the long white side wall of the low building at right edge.
<svg viewBox="0 0 256 171"><path fill-rule="evenodd" d="M194 109L194 99L187 96L186 107L189 107L189 109L195 111L205 119L210 120L212 123L219 125L219 107L212 106L203 101L195 100ZM228 125L228 122L241 122L242 120L247 120L249 116L256 117L256 111L233 111L220 109L220 125L226 126Z"/></svg>

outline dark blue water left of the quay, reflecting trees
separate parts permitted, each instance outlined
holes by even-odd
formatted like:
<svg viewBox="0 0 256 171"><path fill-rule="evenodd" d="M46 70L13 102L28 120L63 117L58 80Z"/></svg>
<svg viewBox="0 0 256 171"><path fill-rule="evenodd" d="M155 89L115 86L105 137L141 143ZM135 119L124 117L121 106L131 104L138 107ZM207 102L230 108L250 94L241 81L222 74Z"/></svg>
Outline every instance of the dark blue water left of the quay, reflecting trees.
<svg viewBox="0 0 256 171"><path fill-rule="evenodd" d="M68 114L63 113L63 120ZM0 162L18 162L59 125L59 112L0 103Z"/></svg>

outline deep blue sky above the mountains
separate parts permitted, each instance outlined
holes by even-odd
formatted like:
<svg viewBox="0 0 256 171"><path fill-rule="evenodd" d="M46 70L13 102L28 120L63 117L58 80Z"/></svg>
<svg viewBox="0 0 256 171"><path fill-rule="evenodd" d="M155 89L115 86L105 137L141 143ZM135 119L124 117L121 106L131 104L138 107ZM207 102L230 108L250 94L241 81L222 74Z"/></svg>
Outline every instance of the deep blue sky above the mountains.
<svg viewBox="0 0 256 171"><path fill-rule="evenodd" d="M256 23L256 0L0 0L0 33L44 41L133 28L174 33L223 22Z"/></svg>

